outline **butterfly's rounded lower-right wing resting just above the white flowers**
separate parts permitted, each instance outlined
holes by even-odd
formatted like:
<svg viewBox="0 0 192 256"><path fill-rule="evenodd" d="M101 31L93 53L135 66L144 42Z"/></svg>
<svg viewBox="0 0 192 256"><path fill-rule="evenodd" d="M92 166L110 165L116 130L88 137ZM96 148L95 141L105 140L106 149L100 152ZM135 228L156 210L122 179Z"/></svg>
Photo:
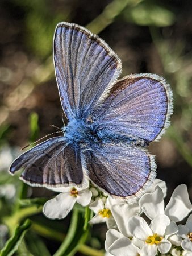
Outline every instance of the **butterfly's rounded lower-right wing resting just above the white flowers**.
<svg viewBox="0 0 192 256"><path fill-rule="evenodd" d="M82 154L90 180L116 197L131 199L142 195L156 176L153 156L141 148L98 143Z"/></svg>

